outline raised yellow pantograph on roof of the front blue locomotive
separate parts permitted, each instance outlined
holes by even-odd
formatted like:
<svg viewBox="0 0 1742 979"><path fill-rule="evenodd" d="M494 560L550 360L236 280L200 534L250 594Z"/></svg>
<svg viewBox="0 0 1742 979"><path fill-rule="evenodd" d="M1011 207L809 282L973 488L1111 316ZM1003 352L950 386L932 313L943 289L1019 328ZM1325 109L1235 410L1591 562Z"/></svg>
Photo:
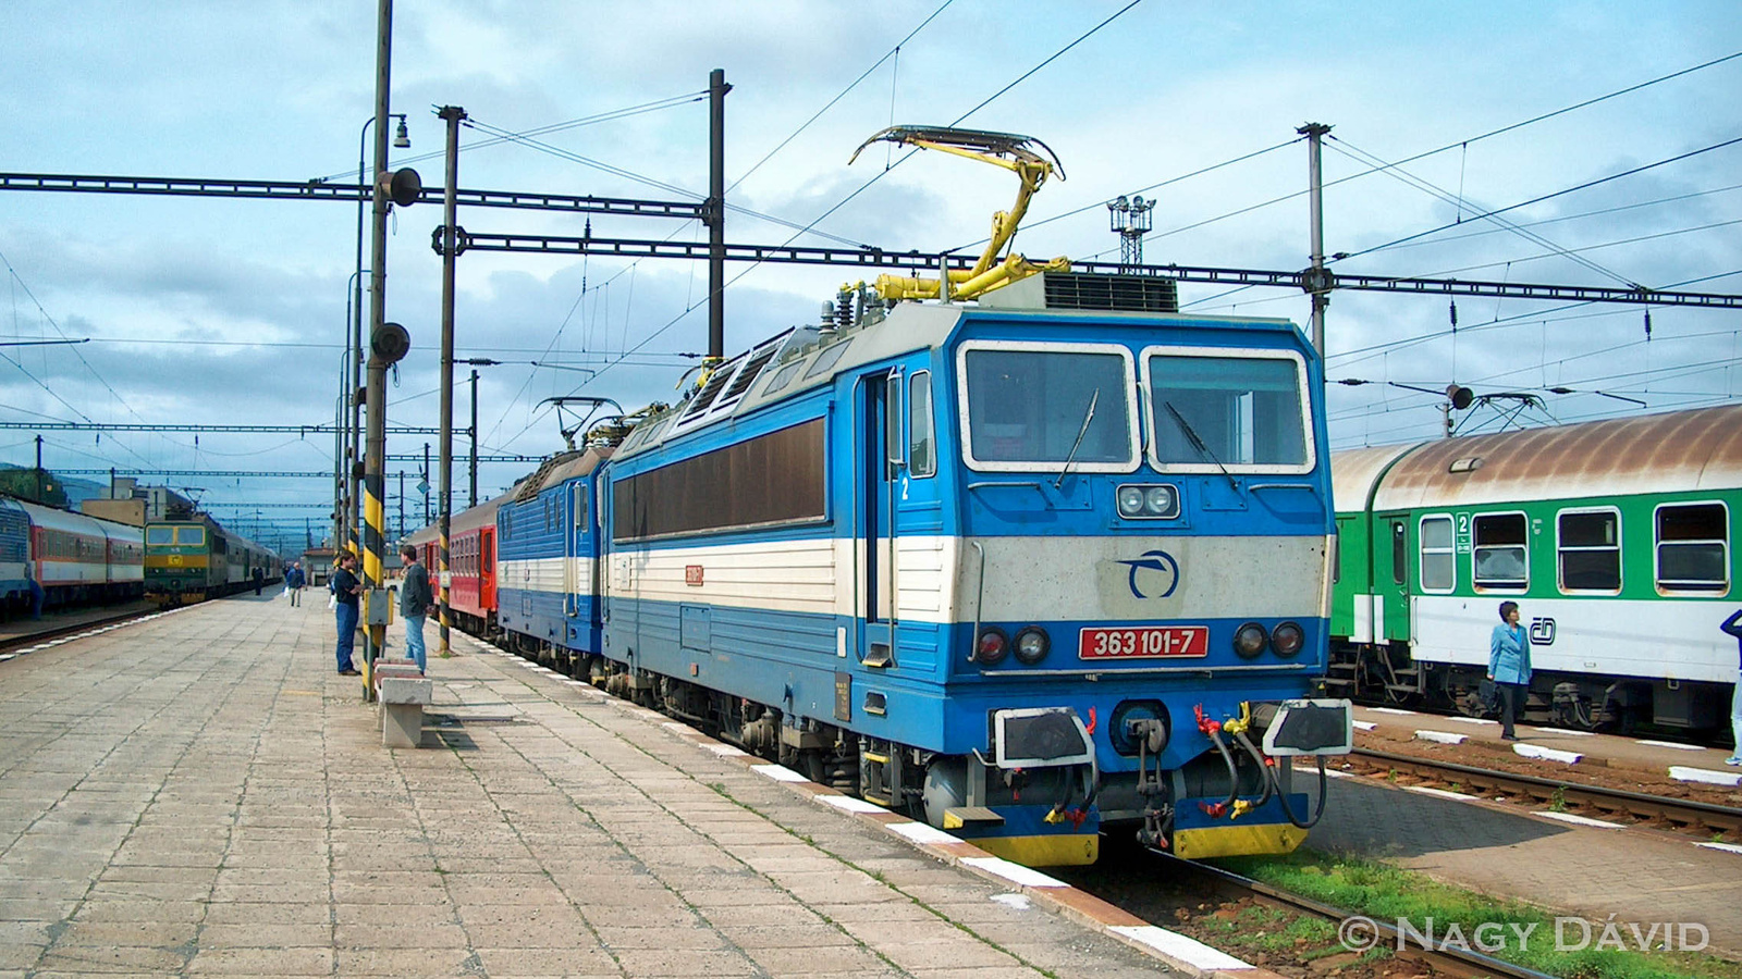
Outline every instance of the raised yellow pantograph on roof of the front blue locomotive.
<svg viewBox="0 0 1742 979"><path fill-rule="evenodd" d="M981 253L974 268L949 270L949 298L972 300L1019 279L1028 279L1036 272L1070 272L1066 258L1054 258L1043 265L1035 265L1021 254L1000 254L1016 235L1016 226L1028 213L1028 200L1047 183L1054 172L1064 179L1064 167L1057 155L1040 139L1017 136L1014 132L986 132L981 129L951 129L944 125L890 125L876 136L866 139L854 150L852 164L871 143L899 143L902 146L920 146L923 150L942 150L956 157L981 160L1003 167L1017 176L1023 185L1016 192L1016 204L1009 211L991 216L991 240ZM1038 150L1036 150L1038 148ZM1045 155L1042 155L1045 153ZM876 291L885 300L935 300L939 298L937 279L911 279L904 275L878 275Z"/></svg>

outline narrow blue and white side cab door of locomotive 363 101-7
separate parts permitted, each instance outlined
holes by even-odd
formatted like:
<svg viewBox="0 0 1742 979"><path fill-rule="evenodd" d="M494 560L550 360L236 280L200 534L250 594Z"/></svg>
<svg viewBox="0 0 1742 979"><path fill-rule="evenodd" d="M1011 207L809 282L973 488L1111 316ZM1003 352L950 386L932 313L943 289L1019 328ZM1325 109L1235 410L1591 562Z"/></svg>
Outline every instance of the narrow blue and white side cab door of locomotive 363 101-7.
<svg viewBox="0 0 1742 979"><path fill-rule="evenodd" d="M895 665L895 493L901 484L901 371L869 375L862 381L864 413L859 435L859 617L864 665Z"/></svg>

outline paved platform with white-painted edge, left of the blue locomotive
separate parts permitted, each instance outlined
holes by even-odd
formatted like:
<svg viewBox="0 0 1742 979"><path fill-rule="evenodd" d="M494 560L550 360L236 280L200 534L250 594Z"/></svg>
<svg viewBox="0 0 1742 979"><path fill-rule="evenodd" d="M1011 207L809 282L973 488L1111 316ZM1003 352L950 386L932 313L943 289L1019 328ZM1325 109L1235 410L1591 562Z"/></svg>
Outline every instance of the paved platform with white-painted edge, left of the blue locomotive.
<svg viewBox="0 0 1742 979"><path fill-rule="evenodd" d="M381 746L322 603L0 664L0 976L1268 976L434 641L422 749Z"/></svg>

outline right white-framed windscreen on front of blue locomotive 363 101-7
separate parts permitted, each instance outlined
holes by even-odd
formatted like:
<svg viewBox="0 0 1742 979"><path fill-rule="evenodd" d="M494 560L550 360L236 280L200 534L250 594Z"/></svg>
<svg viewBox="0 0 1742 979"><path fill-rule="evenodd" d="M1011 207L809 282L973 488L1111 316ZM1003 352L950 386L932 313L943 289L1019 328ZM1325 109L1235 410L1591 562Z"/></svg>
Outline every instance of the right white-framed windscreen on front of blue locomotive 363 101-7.
<svg viewBox="0 0 1742 979"><path fill-rule="evenodd" d="M1150 348L1150 462L1164 472L1310 472L1305 361L1284 350Z"/></svg>

